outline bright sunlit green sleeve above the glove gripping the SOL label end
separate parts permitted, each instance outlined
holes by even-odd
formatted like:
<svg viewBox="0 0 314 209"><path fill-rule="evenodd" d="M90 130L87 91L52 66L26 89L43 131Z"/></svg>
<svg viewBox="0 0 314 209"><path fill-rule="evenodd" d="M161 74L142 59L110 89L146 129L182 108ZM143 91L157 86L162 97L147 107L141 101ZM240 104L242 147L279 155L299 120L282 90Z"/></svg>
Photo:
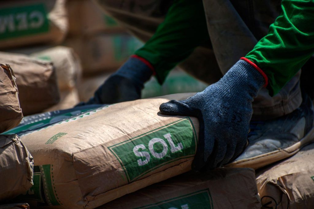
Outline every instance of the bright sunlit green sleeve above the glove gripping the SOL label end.
<svg viewBox="0 0 314 209"><path fill-rule="evenodd" d="M314 54L314 0L282 0L282 13L246 58L268 77L277 94Z"/></svg>

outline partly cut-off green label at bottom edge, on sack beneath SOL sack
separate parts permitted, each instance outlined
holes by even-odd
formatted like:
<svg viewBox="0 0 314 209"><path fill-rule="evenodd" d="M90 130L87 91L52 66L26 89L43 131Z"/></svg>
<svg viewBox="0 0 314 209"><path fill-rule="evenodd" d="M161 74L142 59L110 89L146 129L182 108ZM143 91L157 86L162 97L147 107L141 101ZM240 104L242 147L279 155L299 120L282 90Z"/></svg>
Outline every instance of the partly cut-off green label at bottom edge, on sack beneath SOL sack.
<svg viewBox="0 0 314 209"><path fill-rule="evenodd" d="M213 209L214 207L210 192L206 189L139 208Z"/></svg>

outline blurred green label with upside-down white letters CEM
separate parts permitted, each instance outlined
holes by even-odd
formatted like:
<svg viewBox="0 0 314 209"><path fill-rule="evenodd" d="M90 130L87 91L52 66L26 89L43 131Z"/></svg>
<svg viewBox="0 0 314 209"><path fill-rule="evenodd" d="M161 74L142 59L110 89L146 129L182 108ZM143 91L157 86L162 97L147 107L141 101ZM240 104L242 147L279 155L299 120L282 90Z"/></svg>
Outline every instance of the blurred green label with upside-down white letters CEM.
<svg viewBox="0 0 314 209"><path fill-rule="evenodd" d="M48 31L49 22L44 4L0 9L0 40Z"/></svg>

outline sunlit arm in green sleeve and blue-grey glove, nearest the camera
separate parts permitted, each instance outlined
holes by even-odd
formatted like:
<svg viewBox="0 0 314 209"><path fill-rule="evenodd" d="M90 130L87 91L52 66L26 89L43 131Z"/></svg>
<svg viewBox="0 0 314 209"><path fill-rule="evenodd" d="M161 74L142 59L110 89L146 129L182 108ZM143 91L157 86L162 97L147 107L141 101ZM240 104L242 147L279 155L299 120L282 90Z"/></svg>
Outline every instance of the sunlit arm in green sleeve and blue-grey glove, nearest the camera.
<svg viewBox="0 0 314 209"><path fill-rule="evenodd" d="M276 94L314 53L314 1L283 0L282 8L268 35L217 83L186 100L160 105L164 114L198 117L195 169L212 169L236 159L246 147L252 102L259 89L269 82L270 94Z"/></svg>

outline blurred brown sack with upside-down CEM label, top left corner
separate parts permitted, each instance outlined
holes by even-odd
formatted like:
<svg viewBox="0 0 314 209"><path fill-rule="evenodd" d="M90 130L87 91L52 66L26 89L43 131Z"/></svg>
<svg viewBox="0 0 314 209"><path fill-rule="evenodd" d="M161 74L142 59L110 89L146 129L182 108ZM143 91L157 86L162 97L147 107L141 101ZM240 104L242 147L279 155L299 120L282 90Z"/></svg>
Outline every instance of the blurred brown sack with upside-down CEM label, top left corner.
<svg viewBox="0 0 314 209"><path fill-rule="evenodd" d="M11 0L0 6L0 48L60 43L68 28L65 0Z"/></svg>

